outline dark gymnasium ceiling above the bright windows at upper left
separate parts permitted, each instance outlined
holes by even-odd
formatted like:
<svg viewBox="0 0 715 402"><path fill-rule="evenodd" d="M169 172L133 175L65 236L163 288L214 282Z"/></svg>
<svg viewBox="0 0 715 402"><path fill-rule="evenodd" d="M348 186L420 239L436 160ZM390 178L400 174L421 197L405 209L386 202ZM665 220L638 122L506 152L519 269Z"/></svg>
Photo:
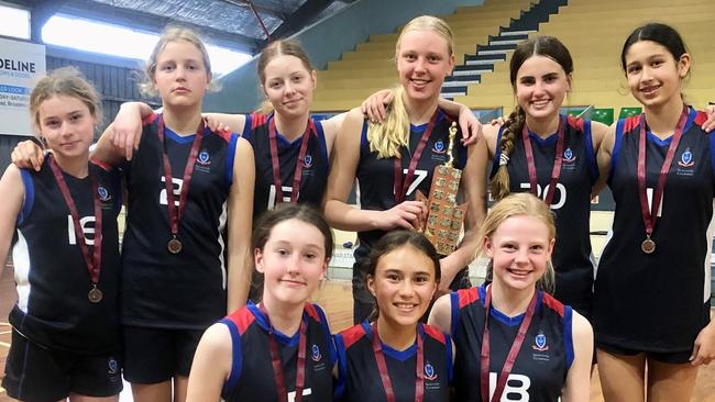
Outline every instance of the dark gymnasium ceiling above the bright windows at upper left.
<svg viewBox="0 0 715 402"><path fill-rule="evenodd" d="M358 0L4 0L30 8L40 29L64 14L161 32L187 25L215 44L255 54ZM33 29L35 31L35 29Z"/></svg>

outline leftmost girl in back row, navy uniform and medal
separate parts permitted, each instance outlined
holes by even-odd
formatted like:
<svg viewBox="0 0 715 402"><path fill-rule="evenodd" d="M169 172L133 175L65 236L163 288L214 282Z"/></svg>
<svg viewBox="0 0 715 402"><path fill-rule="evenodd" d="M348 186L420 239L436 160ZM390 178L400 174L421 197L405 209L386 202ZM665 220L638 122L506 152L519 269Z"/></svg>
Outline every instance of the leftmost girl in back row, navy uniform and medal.
<svg viewBox="0 0 715 402"><path fill-rule="evenodd" d="M2 387L21 401L118 401L122 389L121 176L89 161L99 108L76 69L40 80L30 112L52 156L0 179L0 261L12 246L19 294Z"/></svg>

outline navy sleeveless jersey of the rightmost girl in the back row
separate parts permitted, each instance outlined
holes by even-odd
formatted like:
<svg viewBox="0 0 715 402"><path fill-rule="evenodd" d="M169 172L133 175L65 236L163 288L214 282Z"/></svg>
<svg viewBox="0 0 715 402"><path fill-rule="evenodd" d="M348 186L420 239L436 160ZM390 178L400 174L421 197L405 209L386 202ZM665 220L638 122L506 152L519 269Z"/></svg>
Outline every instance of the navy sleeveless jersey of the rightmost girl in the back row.
<svg viewBox="0 0 715 402"><path fill-rule="evenodd" d="M616 127L608 178L616 212L598 264L594 332L598 343L686 351L710 321L715 137L701 129L705 113L690 110L652 233L657 247L647 255L640 248L646 238L637 179L640 119L620 120ZM650 203L672 137L646 135Z"/></svg>

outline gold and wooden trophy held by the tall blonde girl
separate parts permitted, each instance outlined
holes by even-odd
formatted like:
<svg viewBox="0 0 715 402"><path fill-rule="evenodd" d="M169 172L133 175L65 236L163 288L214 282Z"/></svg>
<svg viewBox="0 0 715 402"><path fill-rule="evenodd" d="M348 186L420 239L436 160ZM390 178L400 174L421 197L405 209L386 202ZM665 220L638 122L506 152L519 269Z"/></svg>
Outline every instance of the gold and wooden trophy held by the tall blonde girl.
<svg viewBox="0 0 715 402"><path fill-rule="evenodd" d="M457 136L457 123L452 122L449 129L449 147L447 155L449 159L444 165L435 167L432 185L429 189L429 198L417 192L417 201L427 205L427 220L421 230L432 243L439 255L446 256L457 248L462 223L466 215L466 203L457 204L457 192L462 178L462 170L452 167L454 137Z"/></svg>

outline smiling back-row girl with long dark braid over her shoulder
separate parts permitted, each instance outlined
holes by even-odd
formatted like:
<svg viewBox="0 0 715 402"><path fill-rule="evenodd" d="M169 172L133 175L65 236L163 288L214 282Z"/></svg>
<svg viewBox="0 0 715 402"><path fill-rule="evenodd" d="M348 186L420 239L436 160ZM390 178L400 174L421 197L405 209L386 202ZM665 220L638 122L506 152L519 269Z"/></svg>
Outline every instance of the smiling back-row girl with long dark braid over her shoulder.
<svg viewBox="0 0 715 402"><path fill-rule="evenodd" d="M531 192L556 215L554 297L590 317L593 271L588 219L598 168L596 150L609 132L605 124L559 114L571 90L573 60L556 37L520 43L510 62L518 105L504 125L484 127L477 145L482 175L492 165L492 196ZM484 179L480 179L480 183Z"/></svg>

